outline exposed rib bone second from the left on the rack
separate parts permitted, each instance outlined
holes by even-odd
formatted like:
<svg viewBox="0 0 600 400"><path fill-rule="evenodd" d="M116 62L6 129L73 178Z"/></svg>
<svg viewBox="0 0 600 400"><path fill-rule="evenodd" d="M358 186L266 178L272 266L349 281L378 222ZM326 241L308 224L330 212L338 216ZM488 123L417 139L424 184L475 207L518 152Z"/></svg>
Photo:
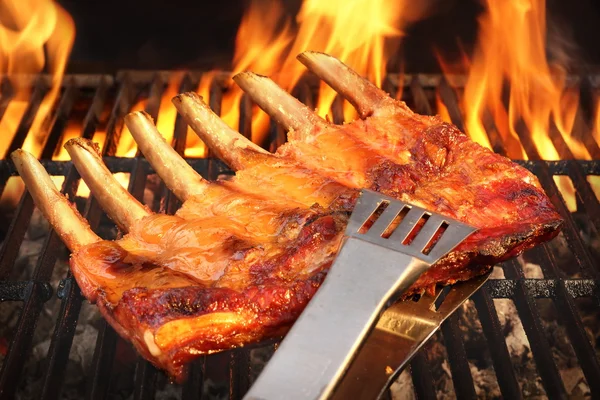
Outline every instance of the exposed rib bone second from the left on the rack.
<svg viewBox="0 0 600 400"><path fill-rule="evenodd" d="M106 168L96 144L86 139L71 139L65 144L75 168L108 216L124 231L151 214Z"/></svg>

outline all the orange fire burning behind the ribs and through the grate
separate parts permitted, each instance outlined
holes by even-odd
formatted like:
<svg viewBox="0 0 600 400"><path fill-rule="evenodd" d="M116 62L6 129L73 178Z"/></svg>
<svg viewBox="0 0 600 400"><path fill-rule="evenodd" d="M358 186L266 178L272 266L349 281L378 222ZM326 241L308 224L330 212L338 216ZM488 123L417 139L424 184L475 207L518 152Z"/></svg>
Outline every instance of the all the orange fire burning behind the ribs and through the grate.
<svg viewBox="0 0 600 400"><path fill-rule="evenodd" d="M465 55L461 60L461 67L467 72L464 95L461 96L467 133L480 144L491 147L486 128L489 129L490 123L493 123L509 157L527 159L533 151L543 159L560 159L564 156L563 149L555 147L549 135L552 132L560 136L575 158L590 159L586 147L571 135L578 118L577 87L567 82L567 65L548 60L546 55L545 0L483 1L485 11L479 18L478 43L472 57L469 59ZM280 0L252 0L238 29L232 73L252 70L271 76L280 86L291 91L306 71L297 62L296 55L305 50L316 50L336 56L381 86L387 61L396 52L404 30L426 17L430 5L431 1L408 0L352 0L343 3L337 0L304 0L293 20ZM0 132L3 133L0 153L4 158L10 148L11 135L15 134L24 116L32 90L31 80L12 77L35 75L44 69L51 76L50 90L23 143L23 148L39 156L47 138L47 122L60 92L74 34L71 17L52 0L0 2L0 71L9 76L15 89L14 98L0 120ZM441 56L438 58L448 82L452 84L450 62ZM183 73L171 74L158 104L156 123L167 141L173 138L177 115L171 98L179 91L183 76ZM399 82L403 82L402 71ZM215 84L224 89L220 104L222 118L234 129L251 135L253 141L262 143L269 130L267 115L252 106L251 132L248 132L248 125L240 126L239 117L240 109L248 104L243 102L243 92L233 84L231 75L218 71L205 73L197 91L208 101L211 85ZM321 84L316 111L332 118L331 108L336 96L330 87ZM137 102L131 111L156 107L148 101ZM436 103L442 118L450 120L439 93ZM600 145L600 100L597 109L593 134ZM354 109L345 102L343 117L346 121L356 118ZM69 121L63 133L63 143L71 137L80 136L81 128L80 123ZM534 149L522 144L523 135L528 135ZM105 136L99 127L94 140L102 146ZM186 140L185 156L207 156L206 146L193 132L188 131ZM137 146L124 126L116 155L134 157L136 152ZM61 147L53 159L68 160L69 157ZM128 177L121 178L121 183L127 185ZM595 187L597 180L590 180L590 183L597 193L600 192ZM558 177L557 184L569 208L573 209L572 183L567 177ZM86 189L82 183L78 194L87 195Z"/></svg>

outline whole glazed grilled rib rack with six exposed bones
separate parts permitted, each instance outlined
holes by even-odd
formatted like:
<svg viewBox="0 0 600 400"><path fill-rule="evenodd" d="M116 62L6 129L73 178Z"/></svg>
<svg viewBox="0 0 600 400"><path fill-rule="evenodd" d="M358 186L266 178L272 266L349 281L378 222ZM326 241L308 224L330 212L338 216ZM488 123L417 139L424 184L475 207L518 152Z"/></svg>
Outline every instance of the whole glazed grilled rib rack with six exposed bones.
<svg viewBox="0 0 600 400"><path fill-rule="evenodd" d="M100 240L37 160L13 154L36 204L72 250L83 294L146 359L177 379L198 354L286 331L324 279L360 188L479 228L407 295L481 274L560 228L526 169L438 117L414 114L335 58L306 52L299 59L362 119L329 124L268 78L239 74L238 85L289 131L288 143L273 154L229 128L194 93L173 100L236 171L231 180L204 180L146 114L126 117L140 150L184 201L176 215L153 214L138 203L93 144L66 145L102 208L128 232L120 240ZM377 273L376 265L365 273Z"/></svg>

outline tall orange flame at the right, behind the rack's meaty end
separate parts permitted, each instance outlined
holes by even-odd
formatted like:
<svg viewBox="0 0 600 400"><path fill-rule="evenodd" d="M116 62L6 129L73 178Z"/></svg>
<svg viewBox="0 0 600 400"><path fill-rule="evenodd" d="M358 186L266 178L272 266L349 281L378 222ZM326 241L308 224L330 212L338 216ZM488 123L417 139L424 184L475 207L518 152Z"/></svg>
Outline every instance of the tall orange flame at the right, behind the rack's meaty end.
<svg viewBox="0 0 600 400"><path fill-rule="evenodd" d="M577 91L566 83L566 67L546 56L545 0L486 0L485 5L462 99L469 135L490 147L483 123L489 113L512 158L527 158L518 136L524 126L542 158L560 159L549 136L555 129L575 157L589 159L585 146L571 136Z"/></svg>

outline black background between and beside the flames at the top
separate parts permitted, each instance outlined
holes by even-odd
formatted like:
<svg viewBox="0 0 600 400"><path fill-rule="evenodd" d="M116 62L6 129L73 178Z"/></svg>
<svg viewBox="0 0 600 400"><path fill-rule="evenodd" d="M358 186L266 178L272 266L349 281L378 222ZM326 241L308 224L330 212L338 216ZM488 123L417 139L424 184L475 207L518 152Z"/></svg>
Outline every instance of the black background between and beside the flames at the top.
<svg viewBox="0 0 600 400"><path fill-rule="evenodd" d="M292 15L301 5L301 0L284 2ZM77 29L68 72L110 73L124 68L230 68L236 31L249 1L58 3L73 16ZM469 51L481 10L477 0L437 0L434 15L408 29L399 56L390 60L388 69L397 71L399 60L404 59L407 72L438 72L432 49L452 58L460 41ZM599 16L600 2L548 0L550 54L567 52L574 69L600 65Z"/></svg>

